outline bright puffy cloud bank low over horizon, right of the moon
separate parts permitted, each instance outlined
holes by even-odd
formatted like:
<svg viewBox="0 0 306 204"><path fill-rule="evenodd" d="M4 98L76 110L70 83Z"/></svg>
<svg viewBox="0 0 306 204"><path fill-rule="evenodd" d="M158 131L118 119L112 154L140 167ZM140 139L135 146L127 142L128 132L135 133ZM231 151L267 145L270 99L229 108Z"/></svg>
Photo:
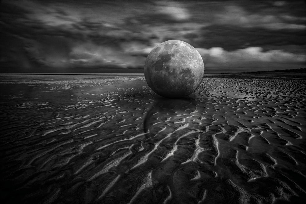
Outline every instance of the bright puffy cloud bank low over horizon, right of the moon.
<svg viewBox="0 0 306 204"><path fill-rule="evenodd" d="M306 54L293 54L283 50L264 52L261 47L248 47L226 51L221 47L196 48L201 54L205 69L209 71L259 71L265 69L297 69L306 63ZM282 66L280 66L282 65ZM219 68L220 70L218 70Z"/></svg>

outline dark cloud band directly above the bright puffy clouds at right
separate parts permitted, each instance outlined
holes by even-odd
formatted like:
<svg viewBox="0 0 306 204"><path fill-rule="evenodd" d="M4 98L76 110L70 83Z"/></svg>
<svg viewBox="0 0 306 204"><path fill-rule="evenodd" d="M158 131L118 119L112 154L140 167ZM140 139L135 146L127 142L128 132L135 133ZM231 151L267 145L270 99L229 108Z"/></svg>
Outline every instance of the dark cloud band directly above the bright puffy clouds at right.
<svg viewBox="0 0 306 204"><path fill-rule="evenodd" d="M211 25L203 28L194 36L195 44L199 47L223 47L225 50L237 50L249 46L260 46L264 50L272 50L272 47L300 46L303 51L306 44L305 30L267 30L266 28L241 28L230 25ZM284 48L287 49L287 48Z"/></svg>

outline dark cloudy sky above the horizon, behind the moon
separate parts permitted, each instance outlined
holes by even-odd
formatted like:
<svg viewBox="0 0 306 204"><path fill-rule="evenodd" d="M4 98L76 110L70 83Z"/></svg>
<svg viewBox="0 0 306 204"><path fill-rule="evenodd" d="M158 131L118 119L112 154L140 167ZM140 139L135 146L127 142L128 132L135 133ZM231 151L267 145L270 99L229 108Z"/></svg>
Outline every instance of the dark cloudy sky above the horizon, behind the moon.
<svg viewBox="0 0 306 204"><path fill-rule="evenodd" d="M0 72L143 72L177 39L205 73L306 66L305 1L2 0Z"/></svg>

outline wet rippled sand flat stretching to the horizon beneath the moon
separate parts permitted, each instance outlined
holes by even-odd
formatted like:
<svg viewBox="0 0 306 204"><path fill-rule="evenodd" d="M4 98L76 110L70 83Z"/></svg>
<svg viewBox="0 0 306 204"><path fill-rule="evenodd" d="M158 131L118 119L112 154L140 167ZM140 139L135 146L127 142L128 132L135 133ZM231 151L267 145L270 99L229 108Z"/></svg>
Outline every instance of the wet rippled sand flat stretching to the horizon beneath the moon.
<svg viewBox="0 0 306 204"><path fill-rule="evenodd" d="M306 79L1 75L9 203L303 203Z"/></svg>

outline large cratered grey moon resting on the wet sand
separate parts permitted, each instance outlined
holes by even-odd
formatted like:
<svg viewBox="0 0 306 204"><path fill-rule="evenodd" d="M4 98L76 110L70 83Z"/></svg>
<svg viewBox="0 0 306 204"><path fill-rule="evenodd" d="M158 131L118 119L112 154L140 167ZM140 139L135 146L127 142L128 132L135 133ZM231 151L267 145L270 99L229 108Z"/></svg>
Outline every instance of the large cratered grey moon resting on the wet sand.
<svg viewBox="0 0 306 204"><path fill-rule="evenodd" d="M151 50L144 65L149 87L166 98L181 98L200 85L204 64L200 53L181 40L168 40Z"/></svg>

